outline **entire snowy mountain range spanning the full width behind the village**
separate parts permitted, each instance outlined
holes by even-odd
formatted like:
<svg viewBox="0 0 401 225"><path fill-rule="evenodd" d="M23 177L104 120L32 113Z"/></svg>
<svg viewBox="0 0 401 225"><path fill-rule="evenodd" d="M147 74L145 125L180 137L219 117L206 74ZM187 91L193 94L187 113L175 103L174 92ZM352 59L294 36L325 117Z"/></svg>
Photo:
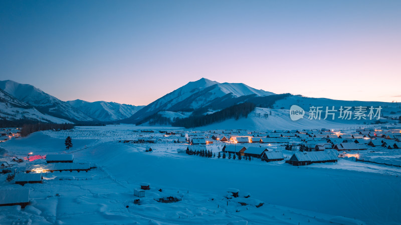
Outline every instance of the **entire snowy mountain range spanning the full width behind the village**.
<svg viewBox="0 0 401 225"><path fill-rule="evenodd" d="M279 128L296 125L307 127L308 124L311 126L326 124L335 127L340 123L375 122L375 120L341 120L337 118L338 113L333 121L308 119L291 121L289 108L294 104L302 107L306 114L311 106L323 106L323 109L325 106L335 106L338 109L341 105L352 107L361 105L381 106L381 118L384 116L387 121L392 121L391 118L401 115L401 105L398 103L310 98L289 93L275 94L243 83L219 83L206 78L188 82L146 106L106 101L88 102L80 99L62 101L30 84L12 80L0 81L0 121L1 119L57 123L116 121L143 125L202 124L205 127L221 125L237 128L269 126ZM238 119L238 114L233 110L241 110L242 115L245 113L249 116L240 121L233 121L233 117L230 116L236 116Z"/></svg>

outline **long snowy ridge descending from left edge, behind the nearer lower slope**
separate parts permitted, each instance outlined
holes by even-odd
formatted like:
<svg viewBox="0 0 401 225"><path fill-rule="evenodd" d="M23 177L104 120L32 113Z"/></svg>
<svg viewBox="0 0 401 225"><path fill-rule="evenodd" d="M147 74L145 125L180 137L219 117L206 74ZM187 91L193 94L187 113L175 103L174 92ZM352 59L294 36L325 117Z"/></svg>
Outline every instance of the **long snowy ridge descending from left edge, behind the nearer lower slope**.
<svg viewBox="0 0 401 225"><path fill-rule="evenodd" d="M22 102L35 106L40 112L74 121L92 121L90 116L41 89L12 80L0 81L0 89Z"/></svg>

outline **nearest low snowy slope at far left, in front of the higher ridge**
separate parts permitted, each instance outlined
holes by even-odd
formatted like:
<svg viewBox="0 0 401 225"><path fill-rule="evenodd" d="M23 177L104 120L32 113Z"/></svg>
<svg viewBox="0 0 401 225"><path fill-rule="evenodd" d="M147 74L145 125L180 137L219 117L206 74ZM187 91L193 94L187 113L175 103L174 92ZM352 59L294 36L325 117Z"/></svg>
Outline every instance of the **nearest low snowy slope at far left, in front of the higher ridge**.
<svg viewBox="0 0 401 225"><path fill-rule="evenodd" d="M18 100L17 98L11 96L2 89L0 89L0 121L1 119L27 119L55 123L71 123L69 120L66 119L43 114L33 106Z"/></svg>

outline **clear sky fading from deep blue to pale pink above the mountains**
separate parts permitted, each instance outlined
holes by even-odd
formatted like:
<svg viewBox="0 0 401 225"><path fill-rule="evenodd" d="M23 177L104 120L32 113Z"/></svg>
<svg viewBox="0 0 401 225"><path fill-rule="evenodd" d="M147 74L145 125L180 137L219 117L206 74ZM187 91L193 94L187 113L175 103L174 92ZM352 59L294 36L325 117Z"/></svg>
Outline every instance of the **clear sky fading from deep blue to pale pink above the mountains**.
<svg viewBox="0 0 401 225"><path fill-rule="evenodd" d="M401 101L401 0L0 1L0 80L145 105L202 77Z"/></svg>

